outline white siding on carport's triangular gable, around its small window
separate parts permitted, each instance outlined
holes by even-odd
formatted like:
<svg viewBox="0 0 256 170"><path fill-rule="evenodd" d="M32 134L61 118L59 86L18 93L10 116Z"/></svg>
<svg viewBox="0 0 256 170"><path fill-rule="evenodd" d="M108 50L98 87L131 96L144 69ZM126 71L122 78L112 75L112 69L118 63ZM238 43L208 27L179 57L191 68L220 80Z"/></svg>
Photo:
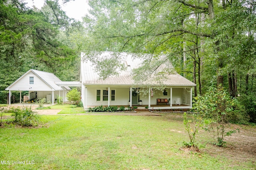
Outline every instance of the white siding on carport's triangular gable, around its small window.
<svg viewBox="0 0 256 170"><path fill-rule="evenodd" d="M29 84L29 77L34 77L34 84ZM24 90L27 91L50 91L52 88L48 86L41 78L39 78L33 72L29 72L16 83L14 83L10 88L10 90Z"/></svg>

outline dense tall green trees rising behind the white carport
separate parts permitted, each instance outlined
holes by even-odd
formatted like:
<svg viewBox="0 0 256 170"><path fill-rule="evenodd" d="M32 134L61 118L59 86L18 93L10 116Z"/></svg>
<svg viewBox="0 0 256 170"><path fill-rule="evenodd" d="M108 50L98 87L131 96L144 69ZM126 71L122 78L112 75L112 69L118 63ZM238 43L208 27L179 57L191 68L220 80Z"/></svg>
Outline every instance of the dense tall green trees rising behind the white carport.
<svg viewBox="0 0 256 170"><path fill-rule="evenodd" d="M74 71L78 70L78 51L67 39L68 31L80 24L70 20L56 3L46 1L47 13L30 9L23 1L0 1L1 103L6 103L4 89L30 68L53 72L62 80L79 78L79 71ZM75 76L64 74L67 70L63 68Z"/></svg>

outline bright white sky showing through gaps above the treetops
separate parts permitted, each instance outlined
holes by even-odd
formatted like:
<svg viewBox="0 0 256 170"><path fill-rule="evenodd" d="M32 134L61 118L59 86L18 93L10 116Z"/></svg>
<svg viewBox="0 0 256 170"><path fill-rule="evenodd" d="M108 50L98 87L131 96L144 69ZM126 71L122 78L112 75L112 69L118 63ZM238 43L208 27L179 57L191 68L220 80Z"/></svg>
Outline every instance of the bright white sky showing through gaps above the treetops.
<svg viewBox="0 0 256 170"><path fill-rule="evenodd" d="M28 3L27 6L32 8L32 6L36 6L36 8L42 8L44 5L44 0L24 0L24 2ZM87 0L74 0L70 1L66 4L62 4L60 0L60 6L62 10L66 12L69 18L74 18L76 20L82 21L82 17L85 16L88 11Z"/></svg>

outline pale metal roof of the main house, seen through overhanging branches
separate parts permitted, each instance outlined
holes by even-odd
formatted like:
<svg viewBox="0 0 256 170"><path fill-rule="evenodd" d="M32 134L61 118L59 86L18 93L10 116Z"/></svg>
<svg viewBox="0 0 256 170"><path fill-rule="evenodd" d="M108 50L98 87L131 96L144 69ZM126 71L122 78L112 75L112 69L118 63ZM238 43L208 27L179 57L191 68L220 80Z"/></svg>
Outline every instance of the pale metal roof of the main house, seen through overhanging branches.
<svg viewBox="0 0 256 170"><path fill-rule="evenodd" d="M135 85L138 84L134 81L132 76L132 70L142 66L143 61L148 54L134 54L134 53L118 53L118 62L126 67L124 70L118 71L118 76L108 76L106 79L102 79L99 76L95 62L90 61L90 58L96 59L96 61L104 61L109 59L113 52L96 52L96 56L91 57L88 54L81 53L81 81L85 85ZM90 54L89 54L90 55ZM140 57L136 57L140 55ZM164 56L165 57L165 56ZM157 68L158 72L161 72L165 68L173 68L170 62L160 64ZM164 86L196 86L190 80L184 78L178 73L172 73L165 75L164 81L159 84L154 80L148 80L143 85L164 85Z"/></svg>

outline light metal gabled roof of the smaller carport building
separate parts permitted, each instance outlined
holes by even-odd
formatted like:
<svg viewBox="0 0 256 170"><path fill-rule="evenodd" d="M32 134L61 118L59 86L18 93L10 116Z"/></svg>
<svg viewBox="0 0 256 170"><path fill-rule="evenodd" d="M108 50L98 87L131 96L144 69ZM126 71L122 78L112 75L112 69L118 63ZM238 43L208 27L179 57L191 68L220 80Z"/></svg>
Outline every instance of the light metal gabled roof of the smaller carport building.
<svg viewBox="0 0 256 170"><path fill-rule="evenodd" d="M26 76L28 73L33 72L40 78L42 81L44 81L50 88L53 90L63 90L60 86L58 86L55 82L61 82L61 80L55 76L53 73L50 72L44 72L39 70L30 69L25 74L20 76L15 82L13 82L10 86L8 86L5 90L10 90L12 85L14 85L16 82L18 82L20 79L22 79L24 76ZM67 90L70 90L68 86L65 86ZM23 90L23 89L20 89Z"/></svg>

